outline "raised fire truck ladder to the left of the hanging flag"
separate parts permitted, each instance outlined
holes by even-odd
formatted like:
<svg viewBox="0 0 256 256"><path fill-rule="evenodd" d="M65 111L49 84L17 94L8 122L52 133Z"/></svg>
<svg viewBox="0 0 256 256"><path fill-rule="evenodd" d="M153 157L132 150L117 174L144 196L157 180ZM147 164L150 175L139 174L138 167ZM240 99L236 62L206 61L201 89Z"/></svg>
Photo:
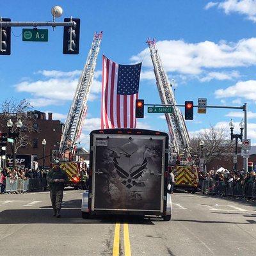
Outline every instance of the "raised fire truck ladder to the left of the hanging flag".
<svg viewBox="0 0 256 256"><path fill-rule="evenodd" d="M65 127L60 141L59 154L63 156L70 149L72 156L76 148L77 140L81 135L86 116L87 100L92 86L97 56L100 49L102 31L93 36L92 47L88 53L86 64L77 84L76 93L70 106Z"/></svg>

